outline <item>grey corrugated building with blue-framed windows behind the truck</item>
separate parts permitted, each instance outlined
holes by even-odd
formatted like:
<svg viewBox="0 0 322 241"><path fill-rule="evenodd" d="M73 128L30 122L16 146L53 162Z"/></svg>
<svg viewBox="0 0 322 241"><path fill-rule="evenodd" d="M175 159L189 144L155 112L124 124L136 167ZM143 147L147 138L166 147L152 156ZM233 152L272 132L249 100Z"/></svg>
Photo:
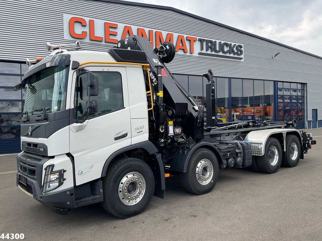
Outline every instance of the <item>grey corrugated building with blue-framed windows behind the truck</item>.
<svg viewBox="0 0 322 241"><path fill-rule="evenodd" d="M0 154L20 151L26 91L14 92L28 69L25 59L45 57L46 42L106 51L137 34L158 47L176 48L167 67L205 106L209 68L216 83L219 121L298 121L322 127L322 57L172 7L118 0L1 2Z"/></svg>

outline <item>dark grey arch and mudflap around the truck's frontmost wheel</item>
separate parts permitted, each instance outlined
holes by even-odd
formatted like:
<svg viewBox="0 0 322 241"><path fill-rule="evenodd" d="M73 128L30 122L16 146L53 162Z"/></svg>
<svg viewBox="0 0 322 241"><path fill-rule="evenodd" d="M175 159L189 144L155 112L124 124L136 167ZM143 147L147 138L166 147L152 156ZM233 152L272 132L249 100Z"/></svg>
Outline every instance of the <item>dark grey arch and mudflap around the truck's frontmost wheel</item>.
<svg viewBox="0 0 322 241"><path fill-rule="evenodd" d="M166 189L163 162L162 162L161 155L157 154L158 150L151 141L143 141L137 144L133 144L128 147L121 148L115 151L114 153L112 153L105 161L105 164L102 169L101 177L104 177L106 175L109 164L114 159L116 159L118 156L122 154L126 155L127 153L131 153L137 150L142 150L144 154L150 157L146 161L146 163L147 165L149 165L154 175L154 179L155 179L154 195L157 197L163 198L164 191Z"/></svg>

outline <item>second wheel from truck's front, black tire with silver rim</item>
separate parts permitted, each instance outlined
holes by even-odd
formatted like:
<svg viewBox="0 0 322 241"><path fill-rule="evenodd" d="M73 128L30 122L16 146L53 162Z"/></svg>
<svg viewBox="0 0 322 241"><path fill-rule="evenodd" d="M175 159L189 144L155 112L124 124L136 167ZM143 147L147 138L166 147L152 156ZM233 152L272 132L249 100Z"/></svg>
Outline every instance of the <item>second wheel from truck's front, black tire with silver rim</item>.
<svg viewBox="0 0 322 241"><path fill-rule="evenodd" d="M180 173L182 186L188 192L204 194L217 183L219 166L216 156L206 148L197 148L191 155L186 173Z"/></svg>

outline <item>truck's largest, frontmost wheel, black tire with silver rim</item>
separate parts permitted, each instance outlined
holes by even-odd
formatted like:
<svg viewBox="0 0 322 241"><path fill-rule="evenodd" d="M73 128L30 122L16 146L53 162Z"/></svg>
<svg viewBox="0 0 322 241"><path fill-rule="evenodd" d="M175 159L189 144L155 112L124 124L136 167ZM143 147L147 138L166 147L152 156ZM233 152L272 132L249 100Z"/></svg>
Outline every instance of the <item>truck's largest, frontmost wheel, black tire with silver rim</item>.
<svg viewBox="0 0 322 241"><path fill-rule="evenodd" d="M136 158L113 161L103 178L102 206L119 218L141 213L150 203L154 192L151 168Z"/></svg>

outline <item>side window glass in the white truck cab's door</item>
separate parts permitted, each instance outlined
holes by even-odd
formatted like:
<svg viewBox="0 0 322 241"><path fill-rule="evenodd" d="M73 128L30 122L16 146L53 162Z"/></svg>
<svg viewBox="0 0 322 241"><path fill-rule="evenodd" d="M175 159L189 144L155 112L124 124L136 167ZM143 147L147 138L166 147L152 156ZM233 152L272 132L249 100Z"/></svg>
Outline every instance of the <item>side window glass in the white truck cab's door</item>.
<svg viewBox="0 0 322 241"><path fill-rule="evenodd" d="M98 112L90 114L89 118L106 114L112 111L120 110L124 107L121 74L118 72L93 72L98 76L99 94L90 96L90 100L96 100ZM87 115L86 95L87 73L79 76L76 81L75 89L75 116L76 119L82 120ZM82 86L82 88L80 88Z"/></svg>

